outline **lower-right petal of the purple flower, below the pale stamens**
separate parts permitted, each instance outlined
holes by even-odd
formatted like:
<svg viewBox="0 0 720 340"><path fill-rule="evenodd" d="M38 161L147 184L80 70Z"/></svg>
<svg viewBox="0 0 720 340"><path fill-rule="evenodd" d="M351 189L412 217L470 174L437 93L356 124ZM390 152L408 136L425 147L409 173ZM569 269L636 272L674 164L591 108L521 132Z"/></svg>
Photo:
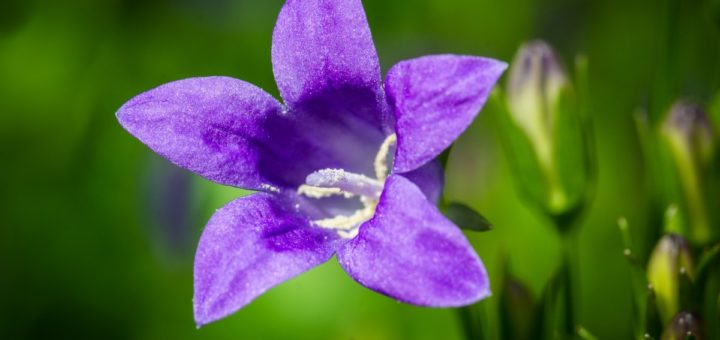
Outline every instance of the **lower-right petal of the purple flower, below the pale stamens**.
<svg viewBox="0 0 720 340"><path fill-rule="evenodd" d="M388 178L375 216L338 250L338 261L363 286L406 303L455 307L490 295L460 229L400 175Z"/></svg>

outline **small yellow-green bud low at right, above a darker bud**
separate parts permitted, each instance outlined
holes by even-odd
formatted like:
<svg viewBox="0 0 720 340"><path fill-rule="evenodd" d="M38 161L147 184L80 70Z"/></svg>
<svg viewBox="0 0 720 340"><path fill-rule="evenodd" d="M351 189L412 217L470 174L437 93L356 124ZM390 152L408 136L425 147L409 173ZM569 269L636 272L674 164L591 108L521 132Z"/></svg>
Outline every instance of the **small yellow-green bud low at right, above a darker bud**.
<svg viewBox="0 0 720 340"><path fill-rule="evenodd" d="M694 276L692 254L684 238L668 234L655 246L648 263L648 281L655 290L663 323L680 309L680 275Z"/></svg>

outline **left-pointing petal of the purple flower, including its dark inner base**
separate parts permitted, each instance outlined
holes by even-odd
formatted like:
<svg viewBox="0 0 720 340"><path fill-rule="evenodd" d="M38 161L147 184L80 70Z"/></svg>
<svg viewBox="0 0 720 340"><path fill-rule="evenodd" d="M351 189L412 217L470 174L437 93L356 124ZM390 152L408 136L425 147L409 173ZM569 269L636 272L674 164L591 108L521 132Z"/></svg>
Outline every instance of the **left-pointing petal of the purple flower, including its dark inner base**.
<svg viewBox="0 0 720 340"><path fill-rule="evenodd" d="M162 85L127 102L117 117L178 166L252 190L295 189L318 169L371 173L377 151L346 125L283 112L269 94L227 77Z"/></svg>

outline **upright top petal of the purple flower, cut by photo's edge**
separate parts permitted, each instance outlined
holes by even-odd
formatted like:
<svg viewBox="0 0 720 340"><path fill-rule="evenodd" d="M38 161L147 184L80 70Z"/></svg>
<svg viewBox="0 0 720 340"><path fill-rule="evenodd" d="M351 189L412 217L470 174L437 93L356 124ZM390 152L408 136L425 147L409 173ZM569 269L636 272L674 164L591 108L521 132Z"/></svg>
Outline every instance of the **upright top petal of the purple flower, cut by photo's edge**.
<svg viewBox="0 0 720 340"><path fill-rule="evenodd" d="M346 120L354 131L388 125L380 64L360 0L287 1L273 33L272 64L293 111Z"/></svg>

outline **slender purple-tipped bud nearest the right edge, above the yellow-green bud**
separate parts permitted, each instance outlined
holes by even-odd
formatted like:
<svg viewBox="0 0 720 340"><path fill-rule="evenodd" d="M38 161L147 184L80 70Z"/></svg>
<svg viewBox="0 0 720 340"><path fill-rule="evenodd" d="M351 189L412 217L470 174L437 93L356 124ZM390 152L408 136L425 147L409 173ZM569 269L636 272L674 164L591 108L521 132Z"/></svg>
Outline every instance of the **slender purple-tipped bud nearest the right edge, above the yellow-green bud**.
<svg viewBox="0 0 720 340"><path fill-rule="evenodd" d="M690 239L705 244L712 237L707 187L716 153L710 120L699 106L678 101L665 118L661 134L680 184L681 197L673 199L682 202Z"/></svg>

